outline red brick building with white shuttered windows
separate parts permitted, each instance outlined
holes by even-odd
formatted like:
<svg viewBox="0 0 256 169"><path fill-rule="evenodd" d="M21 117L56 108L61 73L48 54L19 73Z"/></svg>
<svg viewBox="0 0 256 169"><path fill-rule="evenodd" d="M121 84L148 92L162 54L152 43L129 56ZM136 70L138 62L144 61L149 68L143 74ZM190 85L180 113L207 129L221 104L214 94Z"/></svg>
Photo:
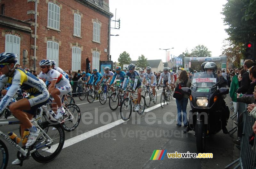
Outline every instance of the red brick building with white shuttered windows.
<svg viewBox="0 0 256 169"><path fill-rule="evenodd" d="M86 68L88 56L91 68L108 60L113 17L108 0L37 0L37 11L36 0L0 0L0 6L0 52L20 54L22 66L24 49L28 51L25 67L32 70L42 59L75 72Z"/></svg>

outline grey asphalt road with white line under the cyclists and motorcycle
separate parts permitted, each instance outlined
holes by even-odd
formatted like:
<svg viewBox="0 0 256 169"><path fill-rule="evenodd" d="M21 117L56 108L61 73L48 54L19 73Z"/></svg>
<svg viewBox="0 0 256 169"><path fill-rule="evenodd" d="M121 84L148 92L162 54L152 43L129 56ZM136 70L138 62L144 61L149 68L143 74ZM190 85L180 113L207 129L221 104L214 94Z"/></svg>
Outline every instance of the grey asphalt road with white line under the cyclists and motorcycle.
<svg viewBox="0 0 256 169"><path fill-rule="evenodd" d="M119 108L112 111L108 102L88 103L75 97L81 109L81 122L76 130L65 132L65 145L53 161L41 164L32 157L23 162L24 168L223 168L233 161L234 144L231 137L222 131L207 139L206 152L213 158L168 158L150 160L154 150L167 153L197 153L194 131L183 133L185 129L176 125L177 108L175 99L161 108L158 100L145 110L143 115L133 112L127 122L120 120ZM229 103L230 98L226 98ZM190 104L188 103L187 112ZM92 118L90 118L90 116ZM15 118L8 119L9 121ZM1 119L1 121L4 121ZM228 130L233 127L229 120ZM19 133L18 125L2 126L1 131ZM77 136L77 137L76 137ZM8 145L8 168L20 168L11 163L16 159L16 151Z"/></svg>

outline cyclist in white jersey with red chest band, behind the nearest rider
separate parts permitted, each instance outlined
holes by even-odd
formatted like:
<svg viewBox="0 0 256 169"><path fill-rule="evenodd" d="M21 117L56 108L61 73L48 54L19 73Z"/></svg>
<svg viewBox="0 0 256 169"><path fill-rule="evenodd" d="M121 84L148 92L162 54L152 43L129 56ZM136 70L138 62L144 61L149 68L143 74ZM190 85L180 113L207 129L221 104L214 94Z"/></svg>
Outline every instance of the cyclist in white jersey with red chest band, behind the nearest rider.
<svg viewBox="0 0 256 169"><path fill-rule="evenodd" d="M41 60L39 63L42 72L39 74L38 78L43 79L43 81L50 81L51 84L48 86L48 91L53 97L52 107L57 108L57 115L54 118L58 120L65 113L65 109L61 104L62 95L66 95L71 90L71 85L67 78L65 78L60 72L52 69L51 60Z"/></svg>

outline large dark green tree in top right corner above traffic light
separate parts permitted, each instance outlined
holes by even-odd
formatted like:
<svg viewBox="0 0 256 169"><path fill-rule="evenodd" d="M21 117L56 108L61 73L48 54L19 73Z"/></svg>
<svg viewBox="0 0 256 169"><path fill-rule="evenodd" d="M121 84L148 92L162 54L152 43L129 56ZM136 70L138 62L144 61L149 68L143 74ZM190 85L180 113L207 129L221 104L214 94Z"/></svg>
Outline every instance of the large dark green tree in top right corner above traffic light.
<svg viewBox="0 0 256 169"><path fill-rule="evenodd" d="M223 5L221 14L225 16L223 21L228 28L225 31L229 40L234 44L255 41L256 30L256 1L255 0L229 0Z"/></svg>

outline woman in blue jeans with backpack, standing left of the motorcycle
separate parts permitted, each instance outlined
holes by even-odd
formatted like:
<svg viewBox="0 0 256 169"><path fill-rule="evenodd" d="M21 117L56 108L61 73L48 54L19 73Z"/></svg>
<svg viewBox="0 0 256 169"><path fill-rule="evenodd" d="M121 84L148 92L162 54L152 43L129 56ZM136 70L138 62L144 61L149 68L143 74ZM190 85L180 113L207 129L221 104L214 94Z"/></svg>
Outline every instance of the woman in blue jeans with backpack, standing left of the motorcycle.
<svg viewBox="0 0 256 169"><path fill-rule="evenodd" d="M188 77L188 72L186 70L182 70L180 72L179 78L177 78L175 86L179 85L181 82L187 81L186 87L190 87L191 83ZM187 118L187 105L188 105L188 95L184 94L183 98L181 100L176 99L177 104L177 111L178 111L178 119L177 119L177 125L181 126L182 123L182 117L181 117L181 110L183 112L183 124L184 127L188 126L188 118Z"/></svg>

